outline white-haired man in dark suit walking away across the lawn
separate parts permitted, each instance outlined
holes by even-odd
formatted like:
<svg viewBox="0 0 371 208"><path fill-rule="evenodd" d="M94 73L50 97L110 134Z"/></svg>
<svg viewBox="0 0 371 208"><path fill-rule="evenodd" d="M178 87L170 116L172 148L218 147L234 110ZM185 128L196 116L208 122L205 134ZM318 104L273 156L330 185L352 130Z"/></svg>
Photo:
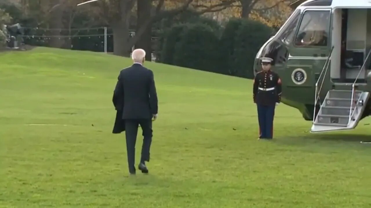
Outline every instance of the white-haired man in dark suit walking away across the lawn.
<svg viewBox="0 0 371 208"><path fill-rule="evenodd" d="M153 72L143 66L145 51L135 49L132 59L134 64L120 71L116 83L113 102L122 119L116 117L113 133L125 131L129 172L135 174L135 142L141 126L144 139L138 169L148 173L145 161L150 161L152 121L157 118L158 100Z"/></svg>

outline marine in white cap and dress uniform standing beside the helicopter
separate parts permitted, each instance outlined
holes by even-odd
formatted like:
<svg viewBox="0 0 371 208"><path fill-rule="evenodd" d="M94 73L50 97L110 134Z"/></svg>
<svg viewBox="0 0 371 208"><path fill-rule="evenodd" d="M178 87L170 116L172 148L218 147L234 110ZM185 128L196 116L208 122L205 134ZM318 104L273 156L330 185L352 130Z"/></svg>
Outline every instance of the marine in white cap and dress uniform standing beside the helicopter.
<svg viewBox="0 0 371 208"><path fill-rule="evenodd" d="M277 73L270 70L272 58L262 57L263 70L254 78L253 99L257 105L259 139L273 138L275 108L281 102L282 85Z"/></svg>

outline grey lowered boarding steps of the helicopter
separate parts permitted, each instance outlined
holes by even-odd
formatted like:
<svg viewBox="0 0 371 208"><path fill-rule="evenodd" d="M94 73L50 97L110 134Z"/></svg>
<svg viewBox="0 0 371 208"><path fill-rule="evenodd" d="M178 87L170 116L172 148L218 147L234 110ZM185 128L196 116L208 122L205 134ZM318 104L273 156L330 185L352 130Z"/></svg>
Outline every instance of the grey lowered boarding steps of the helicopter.
<svg viewBox="0 0 371 208"><path fill-rule="evenodd" d="M330 90L313 122L311 132L354 129L366 107L369 92Z"/></svg>

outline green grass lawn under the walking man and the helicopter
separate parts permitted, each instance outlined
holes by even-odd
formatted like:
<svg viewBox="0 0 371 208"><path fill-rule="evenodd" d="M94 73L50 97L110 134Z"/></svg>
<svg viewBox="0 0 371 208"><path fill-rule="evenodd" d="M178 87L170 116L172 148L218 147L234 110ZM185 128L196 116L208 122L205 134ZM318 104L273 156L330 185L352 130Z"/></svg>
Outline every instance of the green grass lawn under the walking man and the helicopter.
<svg viewBox="0 0 371 208"><path fill-rule="evenodd" d="M158 63L149 175L128 176L112 92L131 60L35 48L0 53L0 207L371 207L371 118L311 134L279 105L259 141L252 81ZM55 124L55 125L28 125ZM234 130L235 129L235 130ZM138 133L136 162L140 157Z"/></svg>

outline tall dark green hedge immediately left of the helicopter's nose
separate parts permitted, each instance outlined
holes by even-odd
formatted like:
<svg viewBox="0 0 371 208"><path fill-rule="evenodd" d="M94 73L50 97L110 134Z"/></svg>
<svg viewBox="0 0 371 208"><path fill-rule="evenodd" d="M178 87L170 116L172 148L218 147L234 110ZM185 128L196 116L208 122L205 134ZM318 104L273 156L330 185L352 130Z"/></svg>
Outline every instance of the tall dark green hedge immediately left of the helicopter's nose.
<svg viewBox="0 0 371 208"><path fill-rule="evenodd" d="M241 20L236 32L234 53L232 55L234 76L254 78L253 64L257 51L269 39L272 28L253 20Z"/></svg>

